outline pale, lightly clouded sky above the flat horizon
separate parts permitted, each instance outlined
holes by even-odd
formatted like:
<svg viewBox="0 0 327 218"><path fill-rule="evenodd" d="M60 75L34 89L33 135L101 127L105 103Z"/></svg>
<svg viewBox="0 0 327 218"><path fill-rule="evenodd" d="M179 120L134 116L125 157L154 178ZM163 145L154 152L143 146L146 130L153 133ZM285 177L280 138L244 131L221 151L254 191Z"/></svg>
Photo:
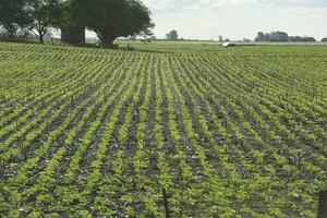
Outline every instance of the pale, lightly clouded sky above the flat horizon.
<svg viewBox="0 0 327 218"><path fill-rule="evenodd" d="M327 37L327 0L143 0L157 38L171 29L190 39L254 39L257 32Z"/></svg>

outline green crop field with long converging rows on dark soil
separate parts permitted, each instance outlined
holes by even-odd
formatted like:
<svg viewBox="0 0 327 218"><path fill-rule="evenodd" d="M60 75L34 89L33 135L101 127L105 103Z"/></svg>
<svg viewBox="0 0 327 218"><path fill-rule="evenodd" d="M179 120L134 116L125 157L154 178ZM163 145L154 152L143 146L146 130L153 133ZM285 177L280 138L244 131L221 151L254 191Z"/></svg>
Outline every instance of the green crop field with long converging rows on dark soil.
<svg viewBox="0 0 327 218"><path fill-rule="evenodd" d="M0 43L0 217L316 217L326 126L327 46Z"/></svg>

